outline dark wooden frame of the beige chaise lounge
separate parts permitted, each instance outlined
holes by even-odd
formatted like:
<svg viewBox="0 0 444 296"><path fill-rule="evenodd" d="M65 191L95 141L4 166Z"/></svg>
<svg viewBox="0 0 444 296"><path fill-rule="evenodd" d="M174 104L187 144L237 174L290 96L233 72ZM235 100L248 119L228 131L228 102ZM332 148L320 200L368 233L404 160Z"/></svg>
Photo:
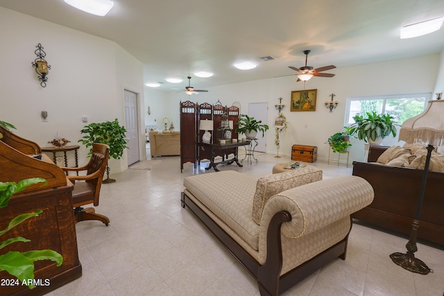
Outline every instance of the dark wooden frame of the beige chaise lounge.
<svg viewBox="0 0 444 296"><path fill-rule="evenodd" d="M267 254L266 263L259 264L246 250L244 250L239 243L237 243L227 232L225 232L214 220L208 216L205 211L191 200L185 192L181 193L180 198L182 207L188 207L189 210L221 241L221 243L230 251L230 253L239 261L250 275L252 275L259 286L259 292L262 296L265 295L280 295L286 290L297 284L305 277L311 275L313 272L323 267L330 261L336 258L345 260L347 254L348 236L352 229L342 241L336 243L324 252L314 256L309 261L302 263L297 268L290 270L284 275L280 276L282 270L282 245L280 227L282 223L291 220L288 211L280 211L276 213L271 219L267 230ZM351 218L350 218L351 220Z"/></svg>

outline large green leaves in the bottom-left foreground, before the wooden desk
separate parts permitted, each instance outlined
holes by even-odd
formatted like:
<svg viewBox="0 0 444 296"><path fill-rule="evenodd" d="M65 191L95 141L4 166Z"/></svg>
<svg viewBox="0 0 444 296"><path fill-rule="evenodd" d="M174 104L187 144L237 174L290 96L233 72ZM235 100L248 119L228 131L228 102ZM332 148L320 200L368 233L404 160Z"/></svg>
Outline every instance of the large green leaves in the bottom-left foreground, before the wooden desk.
<svg viewBox="0 0 444 296"><path fill-rule="evenodd" d="M22 180L18 183L15 182L0 182L0 209L8 206L8 202L12 195L23 191L26 187L32 184L37 184L46 180L42 178L31 178ZM10 231L10 229L19 225L20 223L28 220L29 218L37 217L42 213L42 210L38 209L33 213L20 214L19 216L10 220L8 226L0 231L0 236ZM0 242L0 250L11 243L23 242L26 243L29 240L22 236L15 238L8 238L5 241ZM35 288L32 281L34 279L34 261L37 260L51 260L57 263L57 266L62 265L63 258L58 252L53 250L34 250L28 252L9 251L6 254L0 255L0 271L6 271L10 275L17 277L21 284L26 284L28 288Z"/></svg>

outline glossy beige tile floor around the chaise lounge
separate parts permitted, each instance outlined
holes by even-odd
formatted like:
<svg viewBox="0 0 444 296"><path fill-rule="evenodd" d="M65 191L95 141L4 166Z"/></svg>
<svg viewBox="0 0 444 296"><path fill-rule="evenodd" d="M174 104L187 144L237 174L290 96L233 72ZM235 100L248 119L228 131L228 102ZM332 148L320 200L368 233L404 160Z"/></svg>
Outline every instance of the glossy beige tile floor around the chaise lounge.
<svg viewBox="0 0 444 296"><path fill-rule="evenodd" d="M149 153L147 153L149 155ZM259 177L271 173L274 155L258 162L219 166ZM127 170L104 184L97 212L111 220L76 225L83 276L49 295L251 295L259 296L248 272L187 210L180 207L184 177L205 171L179 157L158 157L151 171ZM350 175L351 168L316 162L324 177ZM309 275L284 295L443 295L444 251L418 244L416 256L434 273L418 275L391 262L389 254L404 252L406 238L355 224L348 256Z"/></svg>

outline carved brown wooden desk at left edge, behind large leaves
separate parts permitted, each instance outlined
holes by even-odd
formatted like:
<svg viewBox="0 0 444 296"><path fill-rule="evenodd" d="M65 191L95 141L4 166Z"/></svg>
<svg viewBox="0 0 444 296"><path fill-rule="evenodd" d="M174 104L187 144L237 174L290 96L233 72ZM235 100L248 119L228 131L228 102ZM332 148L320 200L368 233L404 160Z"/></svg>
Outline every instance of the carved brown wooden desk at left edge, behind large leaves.
<svg viewBox="0 0 444 296"><path fill-rule="evenodd" d="M29 154L40 154L40 147L0 127L0 181L19 182L30 177L42 177L48 184L29 186L25 191L13 195L7 207L0 209L0 229L19 214L42 209L42 214L26 220L1 236L1 241L16 236L31 240L28 243L12 243L0 250L0 254L14 250L50 249L63 256L57 267L49 260L35 261L37 286L0 286L0 295L43 295L82 275L78 259L76 223L71 192L73 184L67 180L62 169L51 159L42 155L42 160ZM7 272L0 272L0 279L13 279ZM41 281L38 281L38 280ZM40 282L40 284L38 284Z"/></svg>

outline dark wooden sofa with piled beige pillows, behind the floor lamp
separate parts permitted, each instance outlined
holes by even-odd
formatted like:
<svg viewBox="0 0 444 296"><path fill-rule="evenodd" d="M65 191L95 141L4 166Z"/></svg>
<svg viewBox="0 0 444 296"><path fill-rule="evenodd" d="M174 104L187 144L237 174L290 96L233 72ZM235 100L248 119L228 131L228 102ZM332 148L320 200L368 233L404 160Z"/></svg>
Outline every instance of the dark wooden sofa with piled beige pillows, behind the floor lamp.
<svg viewBox="0 0 444 296"><path fill-rule="evenodd" d="M368 162L354 162L353 175L364 177L375 190L373 202L352 215L357 220L409 236L418 207L426 146L370 146ZM418 240L444 246L444 148L432 152Z"/></svg>

